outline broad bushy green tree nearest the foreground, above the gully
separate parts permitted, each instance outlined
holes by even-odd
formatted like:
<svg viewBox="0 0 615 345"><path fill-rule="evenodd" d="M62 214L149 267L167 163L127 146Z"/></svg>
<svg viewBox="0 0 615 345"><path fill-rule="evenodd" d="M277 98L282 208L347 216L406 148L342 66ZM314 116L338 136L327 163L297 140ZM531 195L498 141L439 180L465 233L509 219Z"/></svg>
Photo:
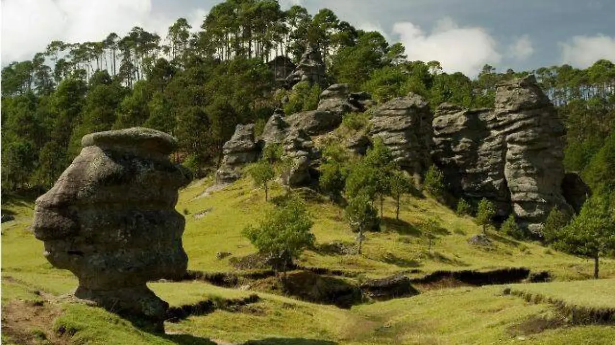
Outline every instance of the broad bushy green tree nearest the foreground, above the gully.
<svg viewBox="0 0 615 345"><path fill-rule="evenodd" d="M244 229L244 236L274 263L274 269L286 271L292 260L314 244L311 216L299 198L269 213L258 226Z"/></svg>

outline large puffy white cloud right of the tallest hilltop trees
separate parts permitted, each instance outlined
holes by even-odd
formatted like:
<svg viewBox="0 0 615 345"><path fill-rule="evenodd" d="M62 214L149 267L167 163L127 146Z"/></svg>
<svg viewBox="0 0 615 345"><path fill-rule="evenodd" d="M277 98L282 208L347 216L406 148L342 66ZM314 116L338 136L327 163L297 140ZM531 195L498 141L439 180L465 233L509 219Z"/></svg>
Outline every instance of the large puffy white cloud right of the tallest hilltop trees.
<svg viewBox="0 0 615 345"><path fill-rule="evenodd" d="M476 76L486 63L501 60L496 41L485 29L460 28L448 17L438 21L429 34L410 22L395 23L393 33L406 47L408 60L436 60L446 72Z"/></svg>

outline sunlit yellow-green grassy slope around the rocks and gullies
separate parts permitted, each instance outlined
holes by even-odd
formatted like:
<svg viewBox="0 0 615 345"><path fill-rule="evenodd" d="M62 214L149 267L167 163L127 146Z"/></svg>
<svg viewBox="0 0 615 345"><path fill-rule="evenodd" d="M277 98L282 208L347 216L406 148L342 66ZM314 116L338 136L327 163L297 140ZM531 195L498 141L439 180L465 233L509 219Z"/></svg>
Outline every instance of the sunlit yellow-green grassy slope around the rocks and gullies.
<svg viewBox="0 0 615 345"><path fill-rule="evenodd" d="M228 259L216 259L216 252L226 251L240 256L253 252L240 232L248 223L257 222L273 207L264 203L261 190L242 180L211 196L197 198L207 183L194 184L180 194L178 210L186 216L184 246L190 257L189 268L202 271L231 271ZM273 194L282 193L274 188ZM13 204L14 222L2 225L2 303L16 300L37 300L33 290L62 295L76 287L76 279L66 271L58 271L46 262L42 243L28 230L31 204ZM315 216L314 233L319 244L333 240L352 242L352 234L341 217L341 211L328 203L310 203ZM204 217L198 212L210 209ZM392 216L393 205L387 202L385 215ZM425 217L436 217L443 231L429 254L416 230ZM403 225L387 222L381 233L370 233L365 255L321 255L306 252L301 263L311 266L360 271L370 276L383 276L418 268L423 273L437 269L490 269L504 266L526 266L548 269L558 279L590 276L592 263L546 250L535 244L499 238L495 249L486 251L467 244L467 238L480 231L468 218L432 200L408 198L402 207ZM615 276L615 264L605 260L601 273ZM10 277L10 278L9 278ZM573 296L581 303L592 303L592 291L605 291L613 281L563 282L549 287L561 298ZM581 286L583 285L583 286ZM195 303L209 298L245 297L250 292L221 289L202 282L153 283L152 289L173 306ZM517 285L514 285L517 286ZM612 287L612 286L611 286ZM611 289L612 290L612 289ZM515 343L509 327L530 316L548 315L548 304L529 304L521 298L501 296L501 287L459 288L427 292L418 297L355 306L350 310L305 303L259 293L263 298L244 312L215 311L208 316L190 317L179 324L167 324L177 335L156 336L144 333L129 322L98 308L60 300L62 316L51 329L60 325L77 330L71 343L91 344L208 344L207 338L241 343L254 339L270 339L262 344L491 344ZM610 291L610 290L608 290ZM589 292L589 293L588 293ZM580 297L583 296L583 297ZM611 295L612 296L612 295ZM608 295L603 298L608 299ZM594 299L595 300L595 299ZM51 327L51 325L50 325ZM183 335L182 335L183 334ZM283 340L279 340L283 338ZM276 340L278 339L278 340ZM319 339L308 341L306 339ZM527 338L535 344L613 344L613 327L571 327L547 330Z"/></svg>

